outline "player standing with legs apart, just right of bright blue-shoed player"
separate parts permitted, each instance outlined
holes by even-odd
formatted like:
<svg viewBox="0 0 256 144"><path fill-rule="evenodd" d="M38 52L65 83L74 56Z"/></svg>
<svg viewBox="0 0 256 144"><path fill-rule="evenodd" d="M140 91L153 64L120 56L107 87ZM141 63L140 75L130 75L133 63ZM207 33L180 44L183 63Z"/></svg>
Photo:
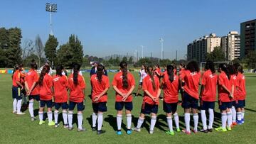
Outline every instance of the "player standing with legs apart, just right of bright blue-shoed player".
<svg viewBox="0 0 256 144"><path fill-rule="evenodd" d="M153 67L147 67L148 75L143 79L142 89L144 91L144 98L142 103L142 110L137 122L137 127L134 131L141 131L142 123L144 122L145 114L151 114L151 122L149 133L154 133L154 126L156 124L156 114L158 112L159 96L161 93L159 78L154 74Z"/></svg>

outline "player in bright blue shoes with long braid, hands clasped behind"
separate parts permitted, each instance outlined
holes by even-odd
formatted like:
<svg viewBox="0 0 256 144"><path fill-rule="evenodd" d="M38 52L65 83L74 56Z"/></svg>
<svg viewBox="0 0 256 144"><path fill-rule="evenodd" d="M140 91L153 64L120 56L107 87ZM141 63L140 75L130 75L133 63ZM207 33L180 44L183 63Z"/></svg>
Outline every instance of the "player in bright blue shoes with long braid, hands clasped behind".
<svg viewBox="0 0 256 144"><path fill-rule="evenodd" d="M116 92L115 109L117 110L117 135L122 135L122 109L125 108L127 116L127 134L130 135L132 125L132 91L135 80L133 75L127 71L127 62L120 62L120 72L114 75L112 82Z"/></svg>

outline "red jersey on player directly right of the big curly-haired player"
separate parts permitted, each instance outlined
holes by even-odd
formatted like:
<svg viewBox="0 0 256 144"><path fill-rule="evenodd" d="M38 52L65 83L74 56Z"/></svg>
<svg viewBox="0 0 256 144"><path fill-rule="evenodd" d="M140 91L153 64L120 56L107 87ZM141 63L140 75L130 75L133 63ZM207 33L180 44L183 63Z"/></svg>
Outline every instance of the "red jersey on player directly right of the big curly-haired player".
<svg viewBox="0 0 256 144"><path fill-rule="evenodd" d="M216 89L217 89L218 75L212 73L210 70L206 70L203 73L201 84L204 86L202 93L203 101L215 101Z"/></svg>

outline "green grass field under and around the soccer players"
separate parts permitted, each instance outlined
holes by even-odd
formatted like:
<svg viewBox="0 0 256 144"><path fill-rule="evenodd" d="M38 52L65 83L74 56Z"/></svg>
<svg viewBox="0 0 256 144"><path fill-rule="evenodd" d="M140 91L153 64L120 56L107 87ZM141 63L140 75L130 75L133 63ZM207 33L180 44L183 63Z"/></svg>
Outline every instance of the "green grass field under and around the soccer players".
<svg viewBox="0 0 256 144"><path fill-rule="evenodd" d="M31 121L28 110L24 116L17 116L12 111L11 99L11 74L0 74L0 143L255 143L256 142L256 74L246 75L247 101L245 110L245 124L235 126L230 132L213 133L196 133L185 135L183 133L175 133L174 136L165 133L168 130L165 113L162 110L162 104L159 106L158 121L153 135L149 135L150 118L146 117L142 131L140 133L132 133L127 135L122 129L123 135L116 135L116 111L114 110L114 91L111 88L108 92L109 101L107 103L108 111L104 114L104 122L102 130L107 132L102 135L96 135L91 131L91 114L92 105L90 98L89 74L85 73L86 89L86 106L83 113L83 126L87 131L78 133L75 128L73 131L64 129L61 125L59 128L44 124L38 125L37 121ZM112 81L113 73L109 73L110 81ZM137 78L139 76L134 73ZM137 88L136 88L137 89ZM134 110L132 126L137 125L137 118L142 105L142 96L134 99ZM34 104L34 108L38 107L38 103ZM180 118L180 126L184 128L183 109L178 106ZM200 114L199 114L200 116ZM62 116L59 116L59 118ZM76 119L76 116L74 116ZM38 119L37 113L36 118ZM193 118L191 117L191 120ZM75 120L76 121L76 120ZM146 122L146 123L145 123ZM220 113L218 105L215 105L215 122L214 127L220 125ZM60 122L62 124L62 122ZM126 118L123 115L122 127L125 128ZM193 121L191 122L193 125ZM77 124L74 123L76 127ZM174 125L175 126L175 125ZM199 129L201 128L201 119L199 119Z"/></svg>

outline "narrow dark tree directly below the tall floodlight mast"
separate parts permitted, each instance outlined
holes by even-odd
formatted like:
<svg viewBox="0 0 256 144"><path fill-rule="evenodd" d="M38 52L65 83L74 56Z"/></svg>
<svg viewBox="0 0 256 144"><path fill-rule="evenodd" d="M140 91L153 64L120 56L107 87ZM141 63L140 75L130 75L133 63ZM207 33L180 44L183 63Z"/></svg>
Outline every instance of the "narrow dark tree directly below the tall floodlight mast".
<svg viewBox="0 0 256 144"><path fill-rule="evenodd" d="M47 60L51 63L53 66L55 64L56 60L56 48L58 46L58 40L54 37L54 35L49 35L48 40L46 41L45 45L45 53Z"/></svg>

